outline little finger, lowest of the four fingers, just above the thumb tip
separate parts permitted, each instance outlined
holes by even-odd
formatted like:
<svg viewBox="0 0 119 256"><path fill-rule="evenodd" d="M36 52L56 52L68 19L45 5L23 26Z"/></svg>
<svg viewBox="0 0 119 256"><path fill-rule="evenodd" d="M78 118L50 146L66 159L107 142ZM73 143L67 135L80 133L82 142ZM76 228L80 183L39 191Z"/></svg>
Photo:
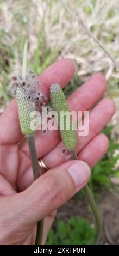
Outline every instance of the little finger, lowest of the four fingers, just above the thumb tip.
<svg viewBox="0 0 119 256"><path fill-rule="evenodd" d="M78 159L85 161L90 168L95 166L95 164L101 159L105 151L108 148L108 138L100 133L95 138L93 138L78 154ZM54 162L54 159L51 159ZM44 161L44 159L43 159ZM66 162L66 157L64 159ZM47 161L45 162L47 163ZM17 187L19 191L25 190L33 182L33 170L29 167L26 172L24 172L17 181Z"/></svg>

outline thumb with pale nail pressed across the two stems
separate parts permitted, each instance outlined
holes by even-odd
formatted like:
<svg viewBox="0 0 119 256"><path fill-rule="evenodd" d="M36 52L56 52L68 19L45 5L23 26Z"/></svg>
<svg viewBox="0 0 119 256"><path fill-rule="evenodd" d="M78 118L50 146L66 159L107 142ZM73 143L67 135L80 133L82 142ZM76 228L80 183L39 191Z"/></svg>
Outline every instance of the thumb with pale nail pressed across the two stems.
<svg viewBox="0 0 119 256"><path fill-rule="evenodd" d="M38 222L66 203L89 180L90 168L83 161L68 161L48 170L21 193L26 223Z"/></svg>

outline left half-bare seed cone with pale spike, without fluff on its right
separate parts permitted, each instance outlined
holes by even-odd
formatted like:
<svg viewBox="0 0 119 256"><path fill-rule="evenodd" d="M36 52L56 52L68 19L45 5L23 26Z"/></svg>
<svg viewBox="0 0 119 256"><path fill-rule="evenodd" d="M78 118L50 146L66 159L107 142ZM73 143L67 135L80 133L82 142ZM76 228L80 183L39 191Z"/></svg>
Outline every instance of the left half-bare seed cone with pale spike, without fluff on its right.
<svg viewBox="0 0 119 256"><path fill-rule="evenodd" d="M14 86L16 86L16 99L21 131L24 135L33 135L35 131L30 127L30 113L35 111L35 102L32 102L33 100L30 99L33 88L31 88L31 80L27 72L27 42L23 50L22 74L18 78L14 77Z"/></svg>

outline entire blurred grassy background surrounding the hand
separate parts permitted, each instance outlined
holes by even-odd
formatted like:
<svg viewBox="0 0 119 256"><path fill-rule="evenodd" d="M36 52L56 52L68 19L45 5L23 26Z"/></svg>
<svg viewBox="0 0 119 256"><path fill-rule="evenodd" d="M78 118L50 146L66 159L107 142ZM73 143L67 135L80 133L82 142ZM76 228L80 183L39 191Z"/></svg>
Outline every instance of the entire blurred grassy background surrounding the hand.
<svg viewBox="0 0 119 256"><path fill-rule="evenodd" d="M65 3L119 63L119 1L65 0ZM94 72L101 72L108 80L107 95L115 101L117 111L103 131L109 137L109 150L93 168L89 185L104 220L101 243L118 244L118 69L59 0L0 0L0 113L12 99L10 78L20 65L18 60L22 59L26 38L28 66L37 75L57 59L73 60L76 75L65 89L66 96ZM91 244L95 231L95 221L82 191L58 211L47 244Z"/></svg>

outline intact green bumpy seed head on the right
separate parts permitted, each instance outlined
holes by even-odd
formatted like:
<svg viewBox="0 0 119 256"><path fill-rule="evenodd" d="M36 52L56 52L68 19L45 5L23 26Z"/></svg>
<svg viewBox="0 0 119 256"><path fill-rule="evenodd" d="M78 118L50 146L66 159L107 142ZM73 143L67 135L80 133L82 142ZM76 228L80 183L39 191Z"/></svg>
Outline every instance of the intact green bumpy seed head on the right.
<svg viewBox="0 0 119 256"><path fill-rule="evenodd" d="M58 114L59 129L61 128L62 124L64 124L64 130L60 129L61 139L64 142L64 145L67 149L69 150L74 149L76 148L76 145L77 145L76 132L73 130L72 119L70 117L70 112L65 99L65 95L62 92L62 89L58 83L52 84L50 88L50 96L51 96L53 109ZM64 113L67 112L69 114L68 120L64 118L64 114L62 114L63 112ZM67 127L69 127L68 130L67 130Z"/></svg>

